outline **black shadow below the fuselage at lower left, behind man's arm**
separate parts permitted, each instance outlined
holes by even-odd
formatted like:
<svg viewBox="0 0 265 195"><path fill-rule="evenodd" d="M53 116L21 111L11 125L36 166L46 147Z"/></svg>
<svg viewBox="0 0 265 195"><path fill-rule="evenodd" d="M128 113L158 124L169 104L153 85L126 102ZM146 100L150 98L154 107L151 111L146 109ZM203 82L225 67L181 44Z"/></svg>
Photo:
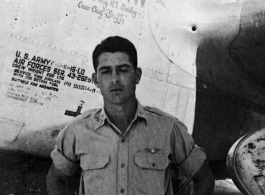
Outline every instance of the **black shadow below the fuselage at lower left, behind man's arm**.
<svg viewBox="0 0 265 195"><path fill-rule="evenodd" d="M1 195L46 195L46 175L50 158L0 150ZM80 171L68 181L70 195L78 194Z"/></svg>

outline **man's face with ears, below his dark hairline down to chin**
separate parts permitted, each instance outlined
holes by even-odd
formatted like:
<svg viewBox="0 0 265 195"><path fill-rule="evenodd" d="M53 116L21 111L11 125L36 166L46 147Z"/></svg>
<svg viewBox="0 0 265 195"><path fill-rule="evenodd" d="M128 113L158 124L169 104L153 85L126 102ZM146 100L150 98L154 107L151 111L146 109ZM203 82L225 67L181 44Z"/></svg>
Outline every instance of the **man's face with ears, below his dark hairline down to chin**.
<svg viewBox="0 0 265 195"><path fill-rule="evenodd" d="M134 70L129 56L123 52L102 53L98 57L97 72L93 74L104 101L111 103L123 103L135 97L140 78L141 69Z"/></svg>

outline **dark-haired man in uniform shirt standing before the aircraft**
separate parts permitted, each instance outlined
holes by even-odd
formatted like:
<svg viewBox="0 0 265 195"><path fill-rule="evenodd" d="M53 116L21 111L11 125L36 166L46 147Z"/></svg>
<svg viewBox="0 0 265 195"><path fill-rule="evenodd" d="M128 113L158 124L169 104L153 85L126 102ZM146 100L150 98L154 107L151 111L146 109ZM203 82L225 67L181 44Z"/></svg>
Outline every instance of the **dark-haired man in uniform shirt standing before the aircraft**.
<svg viewBox="0 0 265 195"><path fill-rule="evenodd" d="M205 154L186 127L137 101L142 72L134 45L109 37L95 48L93 65L104 107L87 111L60 132L51 153L48 194L67 194L66 177L81 167L79 194L172 195L173 164L192 178L193 194L212 194Z"/></svg>

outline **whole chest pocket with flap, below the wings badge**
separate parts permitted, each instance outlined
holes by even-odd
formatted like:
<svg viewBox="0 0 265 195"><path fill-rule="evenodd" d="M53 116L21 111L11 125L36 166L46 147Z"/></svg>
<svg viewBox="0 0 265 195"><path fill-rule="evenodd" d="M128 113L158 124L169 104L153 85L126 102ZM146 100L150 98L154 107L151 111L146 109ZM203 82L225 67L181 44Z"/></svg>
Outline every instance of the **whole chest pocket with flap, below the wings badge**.
<svg viewBox="0 0 265 195"><path fill-rule="evenodd" d="M165 193L168 156L164 153L138 152L134 156L136 190L138 194L161 195Z"/></svg>

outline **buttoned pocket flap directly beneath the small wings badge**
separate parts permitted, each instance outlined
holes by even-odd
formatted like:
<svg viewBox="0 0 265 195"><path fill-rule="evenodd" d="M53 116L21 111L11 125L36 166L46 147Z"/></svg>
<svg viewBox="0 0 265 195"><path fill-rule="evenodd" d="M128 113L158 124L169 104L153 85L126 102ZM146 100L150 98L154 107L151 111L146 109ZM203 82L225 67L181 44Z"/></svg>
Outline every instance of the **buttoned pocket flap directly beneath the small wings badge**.
<svg viewBox="0 0 265 195"><path fill-rule="evenodd" d="M135 154L135 164L144 169L164 170L169 164L166 154L148 154L139 152Z"/></svg>

